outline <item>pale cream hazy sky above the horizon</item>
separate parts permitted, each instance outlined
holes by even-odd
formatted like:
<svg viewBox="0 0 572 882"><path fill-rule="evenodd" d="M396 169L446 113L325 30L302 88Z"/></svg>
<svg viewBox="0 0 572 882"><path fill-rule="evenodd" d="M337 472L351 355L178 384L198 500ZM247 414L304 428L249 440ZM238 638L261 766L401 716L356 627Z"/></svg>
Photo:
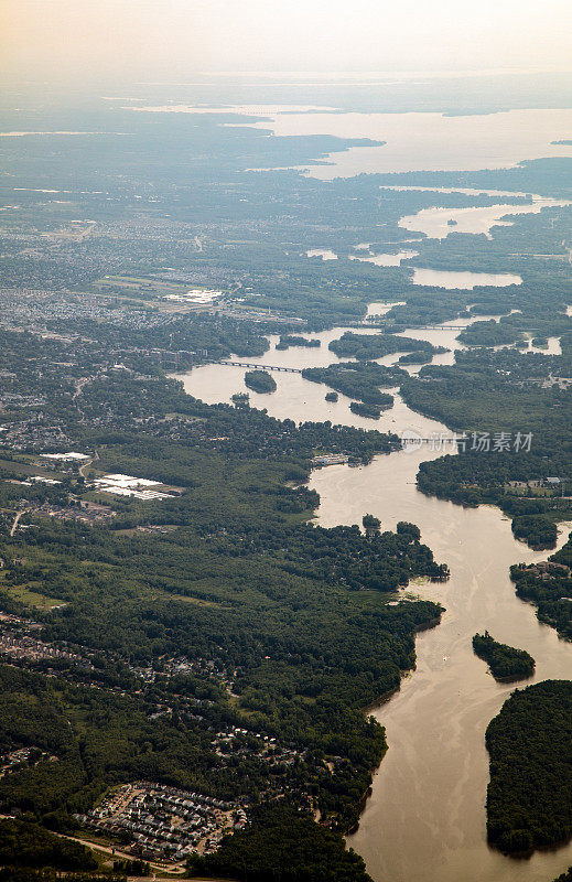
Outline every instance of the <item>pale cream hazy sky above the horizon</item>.
<svg viewBox="0 0 572 882"><path fill-rule="evenodd" d="M572 69L572 0L0 0L3 75Z"/></svg>

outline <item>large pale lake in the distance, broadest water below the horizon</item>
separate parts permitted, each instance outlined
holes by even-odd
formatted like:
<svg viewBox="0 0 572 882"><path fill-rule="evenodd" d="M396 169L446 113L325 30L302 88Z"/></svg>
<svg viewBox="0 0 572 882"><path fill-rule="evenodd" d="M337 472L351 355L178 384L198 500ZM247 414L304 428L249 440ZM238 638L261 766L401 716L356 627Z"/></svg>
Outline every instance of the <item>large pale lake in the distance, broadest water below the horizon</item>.
<svg viewBox="0 0 572 882"><path fill-rule="evenodd" d="M280 137L331 135L369 138L380 147L352 147L328 155L328 164L306 170L330 181L356 174L408 171L471 171L499 169L542 157L572 157L572 146L552 141L570 138L572 110L507 110L498 114L446 116L435 112L355 114L335 108L291 105L201 107L171 104L132 107L139 112L235 114L240 123L269 129ZM325 112L324 112L325 111ZM228 125L228 123L226 123Z"/></svg>

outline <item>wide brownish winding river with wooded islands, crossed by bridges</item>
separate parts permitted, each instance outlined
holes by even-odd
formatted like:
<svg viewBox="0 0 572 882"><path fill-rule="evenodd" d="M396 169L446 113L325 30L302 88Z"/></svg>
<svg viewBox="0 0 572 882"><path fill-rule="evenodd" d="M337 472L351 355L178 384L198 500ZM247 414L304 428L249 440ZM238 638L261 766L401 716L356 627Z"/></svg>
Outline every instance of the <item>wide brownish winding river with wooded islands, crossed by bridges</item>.
<svg viewBox="0 0 572 882"><path fill-rule="evenodd" d="M330 364L337 359L327 343L341 333L336 329L313 335L321 340L320 348L285 352L274 351L277 338L271 337L272 348L249 361L294 367ZM456 348L457 333L443 325L415 331L414 336ZM380 361L388 364L397 357ZM452 356L439 358L447 363ZM209 365L182 379L188 392L214 404L245 391L244 374L242 368ZM445 426L411 411L399 396L376 422L354 416L342 395L336 404L327 404L325 386L298 374L274 377L276 392L250 392L250 400L276 417L330 419L398 433L415 430L422 437L451 434ZM377 515L385 528L410 520L419 525L436 560L451 568L446 583L411 587L418 595L442 602L446 612L438 627L419 634L417 669L403 679L400 692L373 711L386 727L389 751L375 775L359 829L348 841L376 882L551 882L572 864L572 843L516 860L486 842L484 735L515 687L495 682L474 655L471 638L487 628L497 639L531 653L537 669L527 682L569 678L572 646L538 622L533 607L518 600L508 578L511 563L546 555L517 542L497 508L462 508L417 490L419 463L439 455L442 451L424 445L377 456L363 467L328 466L313 472L310 481L320 493L317 519L323 526L359 524L366 512ZM566 535L562 529L560 545Z"/></svg>

